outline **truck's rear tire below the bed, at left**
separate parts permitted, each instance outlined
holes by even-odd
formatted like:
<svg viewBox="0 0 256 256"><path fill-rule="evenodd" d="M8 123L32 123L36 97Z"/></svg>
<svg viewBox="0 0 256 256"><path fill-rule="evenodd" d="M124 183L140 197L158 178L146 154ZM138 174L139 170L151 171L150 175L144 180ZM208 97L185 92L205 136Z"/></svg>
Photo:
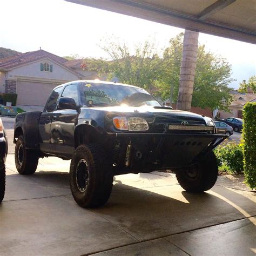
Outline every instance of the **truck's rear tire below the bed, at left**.
<svg viewBox="0 0 256 256"><path fill-rule="evenodd" d="M20 135L15 145L15 165L18 173L22 175L35 173L38 159L38 152L35 150L27 150L25 148L24 138Z"/></svg>

